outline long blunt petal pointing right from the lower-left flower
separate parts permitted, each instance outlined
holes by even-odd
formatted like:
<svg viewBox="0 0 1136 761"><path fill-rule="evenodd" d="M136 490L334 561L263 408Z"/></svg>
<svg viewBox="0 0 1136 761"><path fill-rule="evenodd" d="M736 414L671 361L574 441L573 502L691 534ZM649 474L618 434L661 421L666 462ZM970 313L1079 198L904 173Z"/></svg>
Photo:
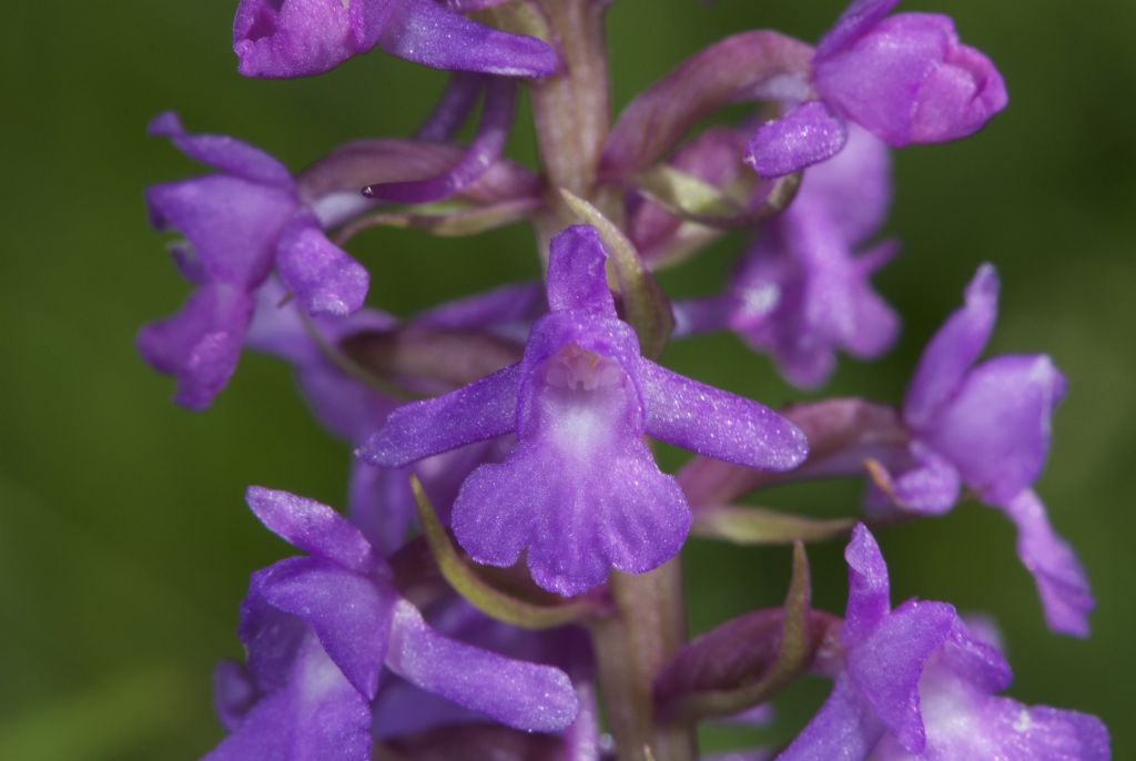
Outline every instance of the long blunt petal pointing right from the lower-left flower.
<svg viewBox="0 0 1136 761"><path fill-rule="evenodd" d="M557 731L579 709L560 669L516 661L449 639L407 601L395 607L386 664L412 684L528 731Z"/></svg>

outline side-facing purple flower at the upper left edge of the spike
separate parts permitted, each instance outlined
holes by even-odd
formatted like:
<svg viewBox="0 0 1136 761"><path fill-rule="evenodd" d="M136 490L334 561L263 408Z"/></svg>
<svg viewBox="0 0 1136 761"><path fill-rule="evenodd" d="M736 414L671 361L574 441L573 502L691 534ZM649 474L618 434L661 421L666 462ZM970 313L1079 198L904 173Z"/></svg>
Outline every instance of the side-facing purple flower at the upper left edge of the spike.
<svg viewBox="0 0 1136 761"><path fill-rule="evenodd" d="M143 327L137 346L154 369L177 378L175 401L201 410L236 369L254 292L274 264L311 315L358 310L369 278L327 240L276 159L232 137L186 134L174 114L154 119L150 134L219 172L147 191L153 226L185 235L174 259L197 288L181 312Z"/></svg>

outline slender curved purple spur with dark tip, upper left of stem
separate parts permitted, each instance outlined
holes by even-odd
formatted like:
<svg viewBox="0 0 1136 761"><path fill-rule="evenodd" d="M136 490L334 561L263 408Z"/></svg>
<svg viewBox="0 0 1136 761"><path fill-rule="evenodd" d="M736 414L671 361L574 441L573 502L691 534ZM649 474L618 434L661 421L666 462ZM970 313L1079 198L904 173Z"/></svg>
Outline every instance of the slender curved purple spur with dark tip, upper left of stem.
<svg viewBox="0 0 1136 761"><path fill-rule="evenodd" d="M436 177L368 185L364 195L393 203L431 203L461 192L501 158L516 106L517 84L510 80L490 80L477 134L457 164Z"/></svg>

